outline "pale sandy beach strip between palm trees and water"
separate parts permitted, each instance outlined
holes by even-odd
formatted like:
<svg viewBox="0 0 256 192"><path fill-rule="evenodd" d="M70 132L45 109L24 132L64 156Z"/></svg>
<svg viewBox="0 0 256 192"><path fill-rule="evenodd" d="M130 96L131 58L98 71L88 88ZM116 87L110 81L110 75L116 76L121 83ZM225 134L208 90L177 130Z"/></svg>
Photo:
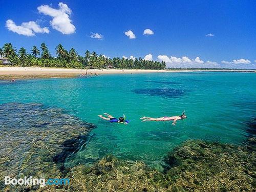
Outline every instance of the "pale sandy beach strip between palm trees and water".
<svg viewBox="0 0 256 192"><path fill-rule="evenodd" d="M255 70L214 70L232 72L256 72ZM214 72L213 70L206 72ZM133 73L164 73L164 72L203 72L203 70L135 70L135 69L61 69L61 68L40 68L40 67L0 67L0 79L8 78L49 78L49 77L75 77L80 74L133 74Z"/></svg>

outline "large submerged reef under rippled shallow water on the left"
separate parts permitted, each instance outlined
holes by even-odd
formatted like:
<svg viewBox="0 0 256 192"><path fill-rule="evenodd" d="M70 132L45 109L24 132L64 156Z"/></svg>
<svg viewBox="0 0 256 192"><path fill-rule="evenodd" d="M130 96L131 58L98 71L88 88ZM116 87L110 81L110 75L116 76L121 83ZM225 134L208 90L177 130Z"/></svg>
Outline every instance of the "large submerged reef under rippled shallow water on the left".
<svg viewBox="0 0 256 192"><path fill-rule="evenodd" d="M0 114L1 181L5 176L61 178L66 171L63 161L79 149L95 127L61 109L37 103L1 104ZM0 190L12 188L0 184Z"/></svg>

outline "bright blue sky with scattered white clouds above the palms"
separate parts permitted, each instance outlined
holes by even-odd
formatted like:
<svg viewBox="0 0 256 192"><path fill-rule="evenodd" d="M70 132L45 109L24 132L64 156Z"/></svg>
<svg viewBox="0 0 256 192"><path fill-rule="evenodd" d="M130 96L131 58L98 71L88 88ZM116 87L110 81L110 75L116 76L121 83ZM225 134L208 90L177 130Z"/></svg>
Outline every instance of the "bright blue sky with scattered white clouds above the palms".
<svg viewBox="0 0 256 192"><path fill-rule="evenodd" d="M256 1L0 0L0 47L256 69Z"/></svg>

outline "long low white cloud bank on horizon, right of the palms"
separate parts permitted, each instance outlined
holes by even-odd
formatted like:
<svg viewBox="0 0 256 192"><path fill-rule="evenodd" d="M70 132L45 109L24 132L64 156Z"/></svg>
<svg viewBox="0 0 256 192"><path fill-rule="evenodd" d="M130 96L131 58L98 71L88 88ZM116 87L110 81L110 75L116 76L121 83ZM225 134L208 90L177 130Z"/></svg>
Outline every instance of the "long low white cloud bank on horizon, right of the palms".
<svg viewBox="0 0 256 192"><path fill-rule="evenodd" d="M221 66L214 61L206 61L200 59L200 57L196 57L195 59L190 59L187 56L183 57L175 57L167 55L158 55L159 61L164 61L166 63L166 67L170 68L220 68Z"/></svg>

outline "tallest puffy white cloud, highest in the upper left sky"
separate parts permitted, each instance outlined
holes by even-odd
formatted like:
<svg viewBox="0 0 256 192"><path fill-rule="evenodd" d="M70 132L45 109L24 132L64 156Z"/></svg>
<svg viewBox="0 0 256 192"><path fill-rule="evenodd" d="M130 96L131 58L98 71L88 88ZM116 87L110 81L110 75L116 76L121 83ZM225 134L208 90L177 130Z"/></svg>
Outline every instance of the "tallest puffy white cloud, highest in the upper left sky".
<svg viewBox="0 0 256 192"><path fill-rule="evenodd" d="M41 5L37 7L39 13L49 15L53 17L50 24L53 29L61 32L62 34L75 33L76 27L72 24L72 20L69 18L71 15L71 9L67 4L60 2L58 4L59 9L54 9L49 5Z"/></svg>

